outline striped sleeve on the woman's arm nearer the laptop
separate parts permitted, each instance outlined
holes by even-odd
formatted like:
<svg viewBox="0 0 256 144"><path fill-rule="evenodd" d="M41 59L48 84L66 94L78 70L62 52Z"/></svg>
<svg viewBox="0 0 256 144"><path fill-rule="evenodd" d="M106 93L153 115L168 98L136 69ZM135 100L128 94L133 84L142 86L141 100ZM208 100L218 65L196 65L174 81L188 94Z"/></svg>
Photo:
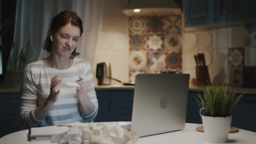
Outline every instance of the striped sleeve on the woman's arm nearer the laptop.
<svg viewBox="0 0 256 144"><path fill-rule="evenodd" d="M88 115L82 115L82 117L85 119L86 122L93 122L93 120L96 118L96 115L98 113L99 104L98 104L98 99L94 89L94 78L93 78L93 71L91 68L91 64L88 61L86 62L87 63L85 65L85 80L87 81L89 86L88 96L91 102L94 104L95 109L93 109L93 111Z"/></svg>

